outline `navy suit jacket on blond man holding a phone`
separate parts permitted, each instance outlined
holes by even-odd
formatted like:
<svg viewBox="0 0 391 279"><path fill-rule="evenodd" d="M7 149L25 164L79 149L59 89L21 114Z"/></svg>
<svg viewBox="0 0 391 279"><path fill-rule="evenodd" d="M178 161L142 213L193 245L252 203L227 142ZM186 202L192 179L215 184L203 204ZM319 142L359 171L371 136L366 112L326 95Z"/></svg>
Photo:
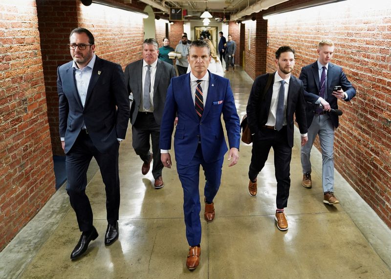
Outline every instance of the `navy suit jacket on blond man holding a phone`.
<svg viewBox="0 0 391 279"><path fill-rule="evenodd" d="M309 102L306 105L307 124L308 127L311 125L314 118L315 109L318 105L313 105L319 99L319 71L318 62L315 61L312 64L304 66L300 73L300 80L303 81L304 85L304 99ZM356 89L351 85L348 78L346 77L342 68L333 63L328 63L327 70L327 99L326 101L330 104L333 109L338 108L337 98L332 95L334 86L340 85L342 89L347 93L348 98L345 101L351 100L356 96ZM328 113L329 117L335 128L338 127L339 121L338 116L334 113Z"/></svg>

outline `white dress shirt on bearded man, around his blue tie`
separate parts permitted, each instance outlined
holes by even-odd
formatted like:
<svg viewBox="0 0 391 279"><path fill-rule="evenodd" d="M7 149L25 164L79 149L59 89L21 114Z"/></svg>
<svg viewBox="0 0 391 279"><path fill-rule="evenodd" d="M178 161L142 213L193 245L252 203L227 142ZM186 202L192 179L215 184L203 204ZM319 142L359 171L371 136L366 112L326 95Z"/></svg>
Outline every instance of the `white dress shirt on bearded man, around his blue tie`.
<svg viewBox="0 0 391 279"><path fill-rule="evenodd" d="M289 80L290 74L286 79L282 79L276 71L274 75L274 83L273 83L273 95L270 103L269 116L267 117L266 126L275 126L276 125L276 113L277 113L277 103L278 103L278 94L280 92L281 80L285 81L284 84L284 118L282 121L282 125L286 125L286 104L288 102L288 89L289 89Z"/></svg>

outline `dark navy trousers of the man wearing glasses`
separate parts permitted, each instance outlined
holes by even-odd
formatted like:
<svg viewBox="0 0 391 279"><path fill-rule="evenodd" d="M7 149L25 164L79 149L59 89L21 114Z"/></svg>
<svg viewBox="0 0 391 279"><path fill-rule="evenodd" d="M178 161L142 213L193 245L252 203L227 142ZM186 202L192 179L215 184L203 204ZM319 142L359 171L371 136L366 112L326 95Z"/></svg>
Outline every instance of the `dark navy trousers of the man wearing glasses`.
<svg viewBox="0 0 391 279"><path fill-rule="evenodd" d="M82 232L92 229L92 209L86 195L87 169L92 157L98 162L105 183L107 221L115 224L118 220L120 204L118 149L119 143L115 140L107 153L100 153L86 130L82 130L66 154L66 191Z"/></svg>

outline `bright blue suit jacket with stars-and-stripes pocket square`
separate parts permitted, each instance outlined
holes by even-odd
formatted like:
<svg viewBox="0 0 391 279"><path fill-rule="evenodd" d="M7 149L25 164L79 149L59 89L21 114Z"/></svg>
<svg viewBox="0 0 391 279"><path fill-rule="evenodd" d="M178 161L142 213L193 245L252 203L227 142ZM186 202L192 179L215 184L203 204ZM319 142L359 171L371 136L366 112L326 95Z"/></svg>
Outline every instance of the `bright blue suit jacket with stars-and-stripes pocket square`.
<svg viewBox="0 0 391 279"><path fill-rule="evenodd" d="M221 123L225 122L229 147L239 149L240 124L235 107L234 95L229 80L209 72L209 88L204 112L199 120L195 112L190 87L190 73L171 79L160 126L160 148L171 149L171 135L174 120L178 115L174 135L175 159L178 164L187 165L194 157L201 141L202 155L206 162L224 157L227 144Z"/></svg>

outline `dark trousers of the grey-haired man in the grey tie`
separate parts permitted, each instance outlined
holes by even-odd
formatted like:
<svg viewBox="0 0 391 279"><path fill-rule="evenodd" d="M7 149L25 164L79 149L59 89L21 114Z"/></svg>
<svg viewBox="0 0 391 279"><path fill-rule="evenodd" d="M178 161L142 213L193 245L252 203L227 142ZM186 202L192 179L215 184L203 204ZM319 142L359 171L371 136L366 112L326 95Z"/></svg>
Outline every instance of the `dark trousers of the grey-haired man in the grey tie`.
<svg viewBox="0 0 391 279"><path fill-rule="evenodd" d="M151 138L153 153L152 175L154 179L157 179L162 175L164 166L160 159L160 125L156 123L153 113L139 112L136 121L131 127L131 132L134 151L144 163L148 163L151 158Z"/></svg>

